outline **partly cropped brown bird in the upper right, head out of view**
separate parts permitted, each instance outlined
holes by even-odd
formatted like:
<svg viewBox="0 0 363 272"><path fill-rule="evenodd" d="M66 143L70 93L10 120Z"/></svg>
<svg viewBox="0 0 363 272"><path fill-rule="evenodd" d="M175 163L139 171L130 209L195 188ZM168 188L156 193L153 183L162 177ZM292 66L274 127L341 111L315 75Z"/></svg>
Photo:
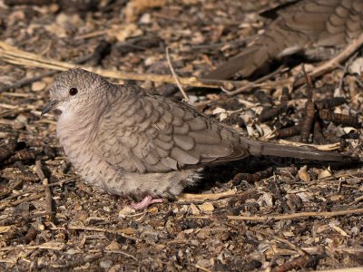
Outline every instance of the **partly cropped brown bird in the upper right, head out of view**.
<svg viewBox="0 0 363 272"><path fill-rule="evenodd" d="M328 60L363 31L362 0L300 0L277 13L250 46L203 78L226 80L235 73L249 77L270 61L294 53Z"/></svg>

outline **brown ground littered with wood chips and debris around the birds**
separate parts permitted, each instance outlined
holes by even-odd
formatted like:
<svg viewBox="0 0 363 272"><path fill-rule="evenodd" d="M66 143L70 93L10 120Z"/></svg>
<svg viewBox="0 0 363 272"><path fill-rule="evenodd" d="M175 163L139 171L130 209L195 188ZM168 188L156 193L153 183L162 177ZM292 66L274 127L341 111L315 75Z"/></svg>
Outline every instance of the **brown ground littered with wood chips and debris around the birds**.
<svg viewBox="0 0 363 272"><path fill-rule="evenodd" d="M170 74L169 46L172 66L182 77L201 76L238 53L247 37L269 24L260 12L278 4L72 0L37 5L48 1L29 0L18 5L22 2L0 0L2 43L74 66L139 74ZM360 55L350 63L359 64ZM305 68L318 65L307 63ZM314 122L311 135L308 131L309 142L359 156L362 77L346 66L314 79L310 91L306 84L282 84L301 73L297 65L270 78L270 87L236 95L220 88L189 88L189 93L198 109L246 136L285 138L291 144L300 141L299 133L289 136L293 133L281 129L297 127L312 92L315 116L320 114L321 120ZM179 199L133 210L130 199L81 182L56 139L57 114L41 117L55 73L9 63L0 53L0 270L311 271L363 266L363 170L357 163L249 158L207 168L201 184ZM128 83L181 99L173 84ZM337 114L325 118L323 108Z"/></svg>

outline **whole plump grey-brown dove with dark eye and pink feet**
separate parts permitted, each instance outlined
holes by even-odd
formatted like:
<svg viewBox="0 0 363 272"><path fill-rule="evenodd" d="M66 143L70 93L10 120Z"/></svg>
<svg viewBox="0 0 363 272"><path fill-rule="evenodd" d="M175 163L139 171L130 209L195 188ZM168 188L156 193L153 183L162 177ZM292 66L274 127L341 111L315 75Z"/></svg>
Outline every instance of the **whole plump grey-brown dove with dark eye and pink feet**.
<svg viewBox="0 0 363 272"><path fill-rule="evenodd" d="M197 112L190 105L115 85L75 68L50 87L52 101L42 114L58 108L57 136L86 183L116 195L172 198L201 178L212 163L249 155L311 160L342 160L333 152L253 141Z"/></svg>

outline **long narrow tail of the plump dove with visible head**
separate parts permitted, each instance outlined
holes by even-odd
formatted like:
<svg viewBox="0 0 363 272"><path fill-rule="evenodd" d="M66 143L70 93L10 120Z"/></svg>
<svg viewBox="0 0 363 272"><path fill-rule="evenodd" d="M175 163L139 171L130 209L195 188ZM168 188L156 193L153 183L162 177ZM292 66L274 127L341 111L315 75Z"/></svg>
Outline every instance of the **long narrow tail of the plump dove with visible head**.
<svg viewBox="0 0 363 272"><path fill-rule="evenodd" d="M278 157L299 158L307 160L343 161L357 160L333 151L318 151L309 148L296 147L291 145L275 144L266 141L255 141L246 138L240 139L250 151L251 155L269 155Z"/></svg>

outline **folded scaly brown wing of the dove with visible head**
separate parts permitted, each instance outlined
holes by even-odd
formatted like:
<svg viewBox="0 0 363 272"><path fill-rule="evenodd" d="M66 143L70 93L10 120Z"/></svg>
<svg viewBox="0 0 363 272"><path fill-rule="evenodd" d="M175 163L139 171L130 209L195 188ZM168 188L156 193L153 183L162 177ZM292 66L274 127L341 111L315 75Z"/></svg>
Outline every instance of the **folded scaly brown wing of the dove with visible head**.
<svg viewBox="0 0 363 272"><path fill-rule="evenodd" d="M239 146L237 131L187 104L140 90L120 97L101 125L112 137L100 134L97 152L120 170L167 172L249 155Z"/></svg>

